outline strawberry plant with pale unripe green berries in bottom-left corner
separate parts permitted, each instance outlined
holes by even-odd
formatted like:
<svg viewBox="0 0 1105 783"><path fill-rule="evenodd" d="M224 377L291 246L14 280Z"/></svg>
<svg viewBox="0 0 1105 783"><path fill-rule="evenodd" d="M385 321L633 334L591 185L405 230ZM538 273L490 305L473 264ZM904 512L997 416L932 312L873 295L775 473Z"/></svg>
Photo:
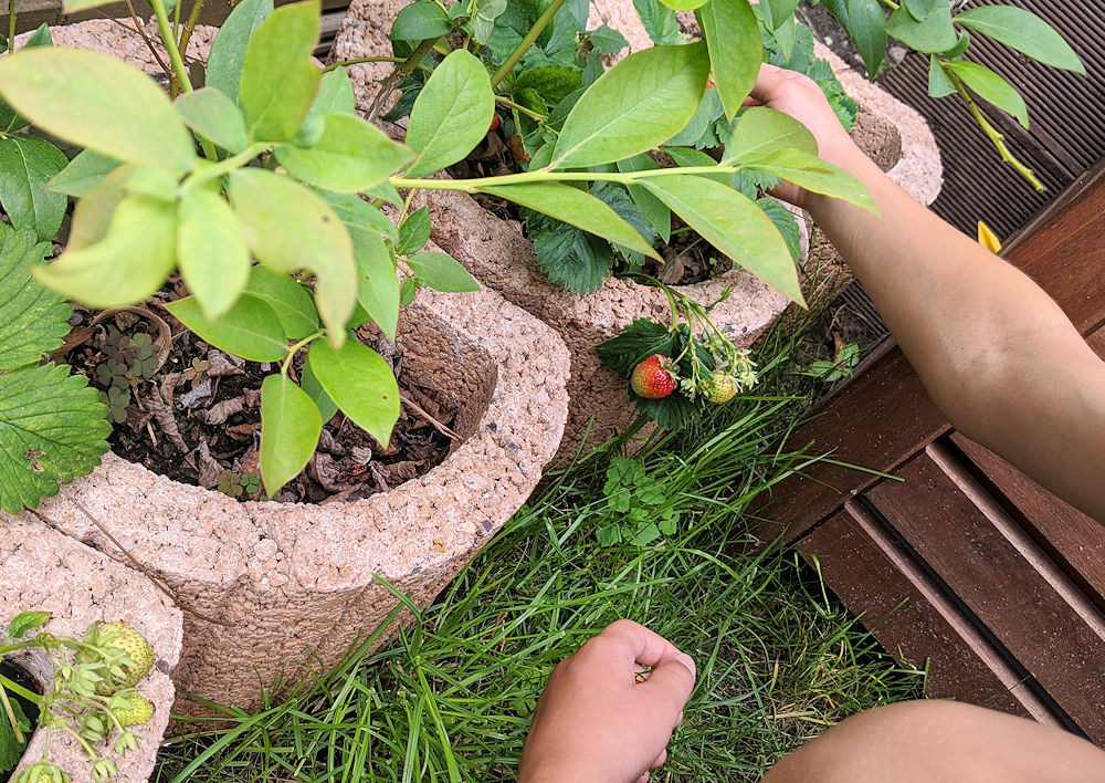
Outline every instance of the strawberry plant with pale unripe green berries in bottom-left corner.
<svg viewBox="0 0 1105 783"><path fill-rule="evenodd" d="M137 750L130 729L147 723L154 706L135 686L149 674L156 656L143 636L126 623L93 623L83 639L39 631L48 612L24 612L9 623L0 658L17 650L39 649L54 667L41 696L0 675L0 773L19 763L27 747L30 721L20 700L38 710L46 741L42 758L24 768L13 783L72 780L71 773L50 760L52 741L62 734L76 740L87 753L95 783L109 783L118 770L102 755L110 742L118 755ZM18 697L18 698L17 698Z"/></svg>

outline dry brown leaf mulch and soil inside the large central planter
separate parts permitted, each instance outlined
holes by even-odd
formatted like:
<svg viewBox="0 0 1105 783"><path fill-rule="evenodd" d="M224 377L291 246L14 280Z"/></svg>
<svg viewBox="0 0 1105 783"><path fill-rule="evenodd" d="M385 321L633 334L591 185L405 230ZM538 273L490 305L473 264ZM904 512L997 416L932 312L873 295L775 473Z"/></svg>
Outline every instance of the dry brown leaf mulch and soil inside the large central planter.
<svg viewBox="0 0 1105 783"><path fill-rule="evenodd" d="M125 416L114 422L112 450L177 481L222 489L240 500L261 499L256 490L261 384L280 367L213 348L158 304L150 300L143 307L108 315L94 316L81 309L74 314L75 328L64 351L76 372L87 375L102 392L112 393L107 365L117 367L122 354L124 363L137 369L124 382L116 380L112 393L112 409L117 418ZM451 428L456 409L418 385L415 374L408 372L389 341L368 327L358 334L392 365L399 379L404 400L391 443L385 449L338 413L324 427L307 468L284 487L277 500L359 500L424 474L449 452L452 440L441 429ZM140 346L147 337L140 335L148 335L152 351L147 353L154 356L145 367ZM293 379L298 380L304 353L293 361ZM156 372L154 365L160 365Z"/></svg>

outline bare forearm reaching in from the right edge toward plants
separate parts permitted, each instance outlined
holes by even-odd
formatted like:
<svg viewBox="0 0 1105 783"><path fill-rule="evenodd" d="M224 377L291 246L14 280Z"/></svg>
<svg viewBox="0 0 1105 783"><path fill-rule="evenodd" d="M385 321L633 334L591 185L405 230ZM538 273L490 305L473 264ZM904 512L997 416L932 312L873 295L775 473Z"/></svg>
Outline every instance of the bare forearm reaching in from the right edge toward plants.
<svg viewBox="0 0 1105 783"><path fill-rule="evenodd" d="M913 200L853 145L827 157L863 180L881 215L815 195L803 206L944 415L1105 521L1105 364L1031 279Z"/></svg>

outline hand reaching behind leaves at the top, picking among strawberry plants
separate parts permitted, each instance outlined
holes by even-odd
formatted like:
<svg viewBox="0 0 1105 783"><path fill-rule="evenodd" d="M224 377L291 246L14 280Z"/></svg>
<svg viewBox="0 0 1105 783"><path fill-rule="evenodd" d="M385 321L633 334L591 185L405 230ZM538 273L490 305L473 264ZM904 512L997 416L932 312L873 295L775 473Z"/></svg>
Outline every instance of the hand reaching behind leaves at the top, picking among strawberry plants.
<svg viewBox="0 0 1105 783"><path fill-rule="evenodd" d="M818 154L834 166L848 169L852 156L860 153L852 137L836 118L821 87L809 76L765 63L745 105L767 106L789 114L804 125L818 142ZM806 191L783 182L771 191L772 196L804 206Z"/></svg>

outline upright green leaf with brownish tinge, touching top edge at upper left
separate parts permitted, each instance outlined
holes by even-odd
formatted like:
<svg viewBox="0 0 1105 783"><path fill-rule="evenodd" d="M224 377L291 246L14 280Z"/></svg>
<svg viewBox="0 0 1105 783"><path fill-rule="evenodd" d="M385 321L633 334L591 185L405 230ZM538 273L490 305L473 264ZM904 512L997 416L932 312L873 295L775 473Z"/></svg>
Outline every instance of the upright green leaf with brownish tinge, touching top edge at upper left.
<svg viewBox="0 0 1105 783"><path fill-rule="evenodd" d="M303 124L322 76L312 62L318 0L283 6L261 22L242 62L238 103L255 142L287 142Z"/></svg>

